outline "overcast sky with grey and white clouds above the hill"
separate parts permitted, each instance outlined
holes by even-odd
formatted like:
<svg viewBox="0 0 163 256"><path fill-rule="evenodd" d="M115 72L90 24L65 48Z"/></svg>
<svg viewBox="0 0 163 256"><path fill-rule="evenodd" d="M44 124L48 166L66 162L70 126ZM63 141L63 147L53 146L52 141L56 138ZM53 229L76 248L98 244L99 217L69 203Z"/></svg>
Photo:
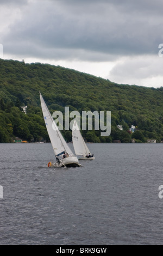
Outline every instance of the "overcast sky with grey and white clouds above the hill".
<svg viewBox="0 0 163 256"><path fill-rule="evenodd" d="M157 88L162 9L162 0L0 0L0 57Z"/></svg>

